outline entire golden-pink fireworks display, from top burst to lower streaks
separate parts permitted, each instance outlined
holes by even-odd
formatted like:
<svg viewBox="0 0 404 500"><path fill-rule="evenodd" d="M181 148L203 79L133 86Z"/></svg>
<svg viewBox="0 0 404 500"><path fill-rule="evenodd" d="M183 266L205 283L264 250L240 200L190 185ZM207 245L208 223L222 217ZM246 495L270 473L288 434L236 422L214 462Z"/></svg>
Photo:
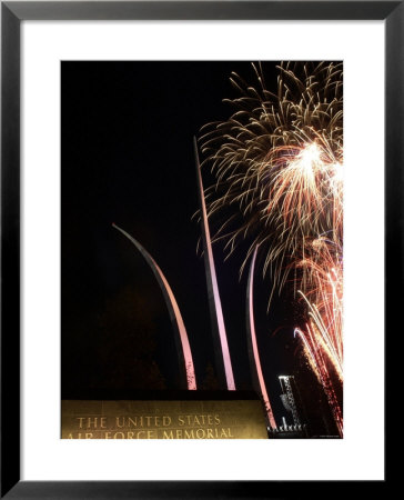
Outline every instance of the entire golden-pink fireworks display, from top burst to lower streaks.
<svg viewBox="0 0 404 500"><path fill-rule="evenodd" d="M241 97L229 101L229 120L209 123L202 152L216 182L205 192L208 216L233 214L213 241L228 257L250 242L240 272L255 248L274 292L293 286L307 317L295 332L316 373L342 434L330 368L342 371L343 99L342 64L282 63L277 90L267 90L263 68L253 64L257 88L232 73Z"/></svg>

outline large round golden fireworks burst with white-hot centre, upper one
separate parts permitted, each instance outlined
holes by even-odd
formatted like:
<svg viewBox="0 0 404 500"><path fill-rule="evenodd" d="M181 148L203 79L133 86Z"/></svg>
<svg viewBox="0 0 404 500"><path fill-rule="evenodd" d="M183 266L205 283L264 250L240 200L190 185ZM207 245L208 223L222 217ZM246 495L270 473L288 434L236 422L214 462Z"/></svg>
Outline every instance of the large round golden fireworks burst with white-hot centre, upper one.
<svg viewBox="0 0 404 500"><path fill-rule="evenodd" d="M342 240L342 66L282 64L277 94L266 90L261 64L253 68L259 90L233 74L243 93L229 101L236 111L204 128L204 163L216 176L206 200L210 218L224 207L240 209L215 240L225 239L229 254L241 239L252 240L241 271L255 247L266 249L263 271L281 290L286 258L306 239Z"/></svg>

